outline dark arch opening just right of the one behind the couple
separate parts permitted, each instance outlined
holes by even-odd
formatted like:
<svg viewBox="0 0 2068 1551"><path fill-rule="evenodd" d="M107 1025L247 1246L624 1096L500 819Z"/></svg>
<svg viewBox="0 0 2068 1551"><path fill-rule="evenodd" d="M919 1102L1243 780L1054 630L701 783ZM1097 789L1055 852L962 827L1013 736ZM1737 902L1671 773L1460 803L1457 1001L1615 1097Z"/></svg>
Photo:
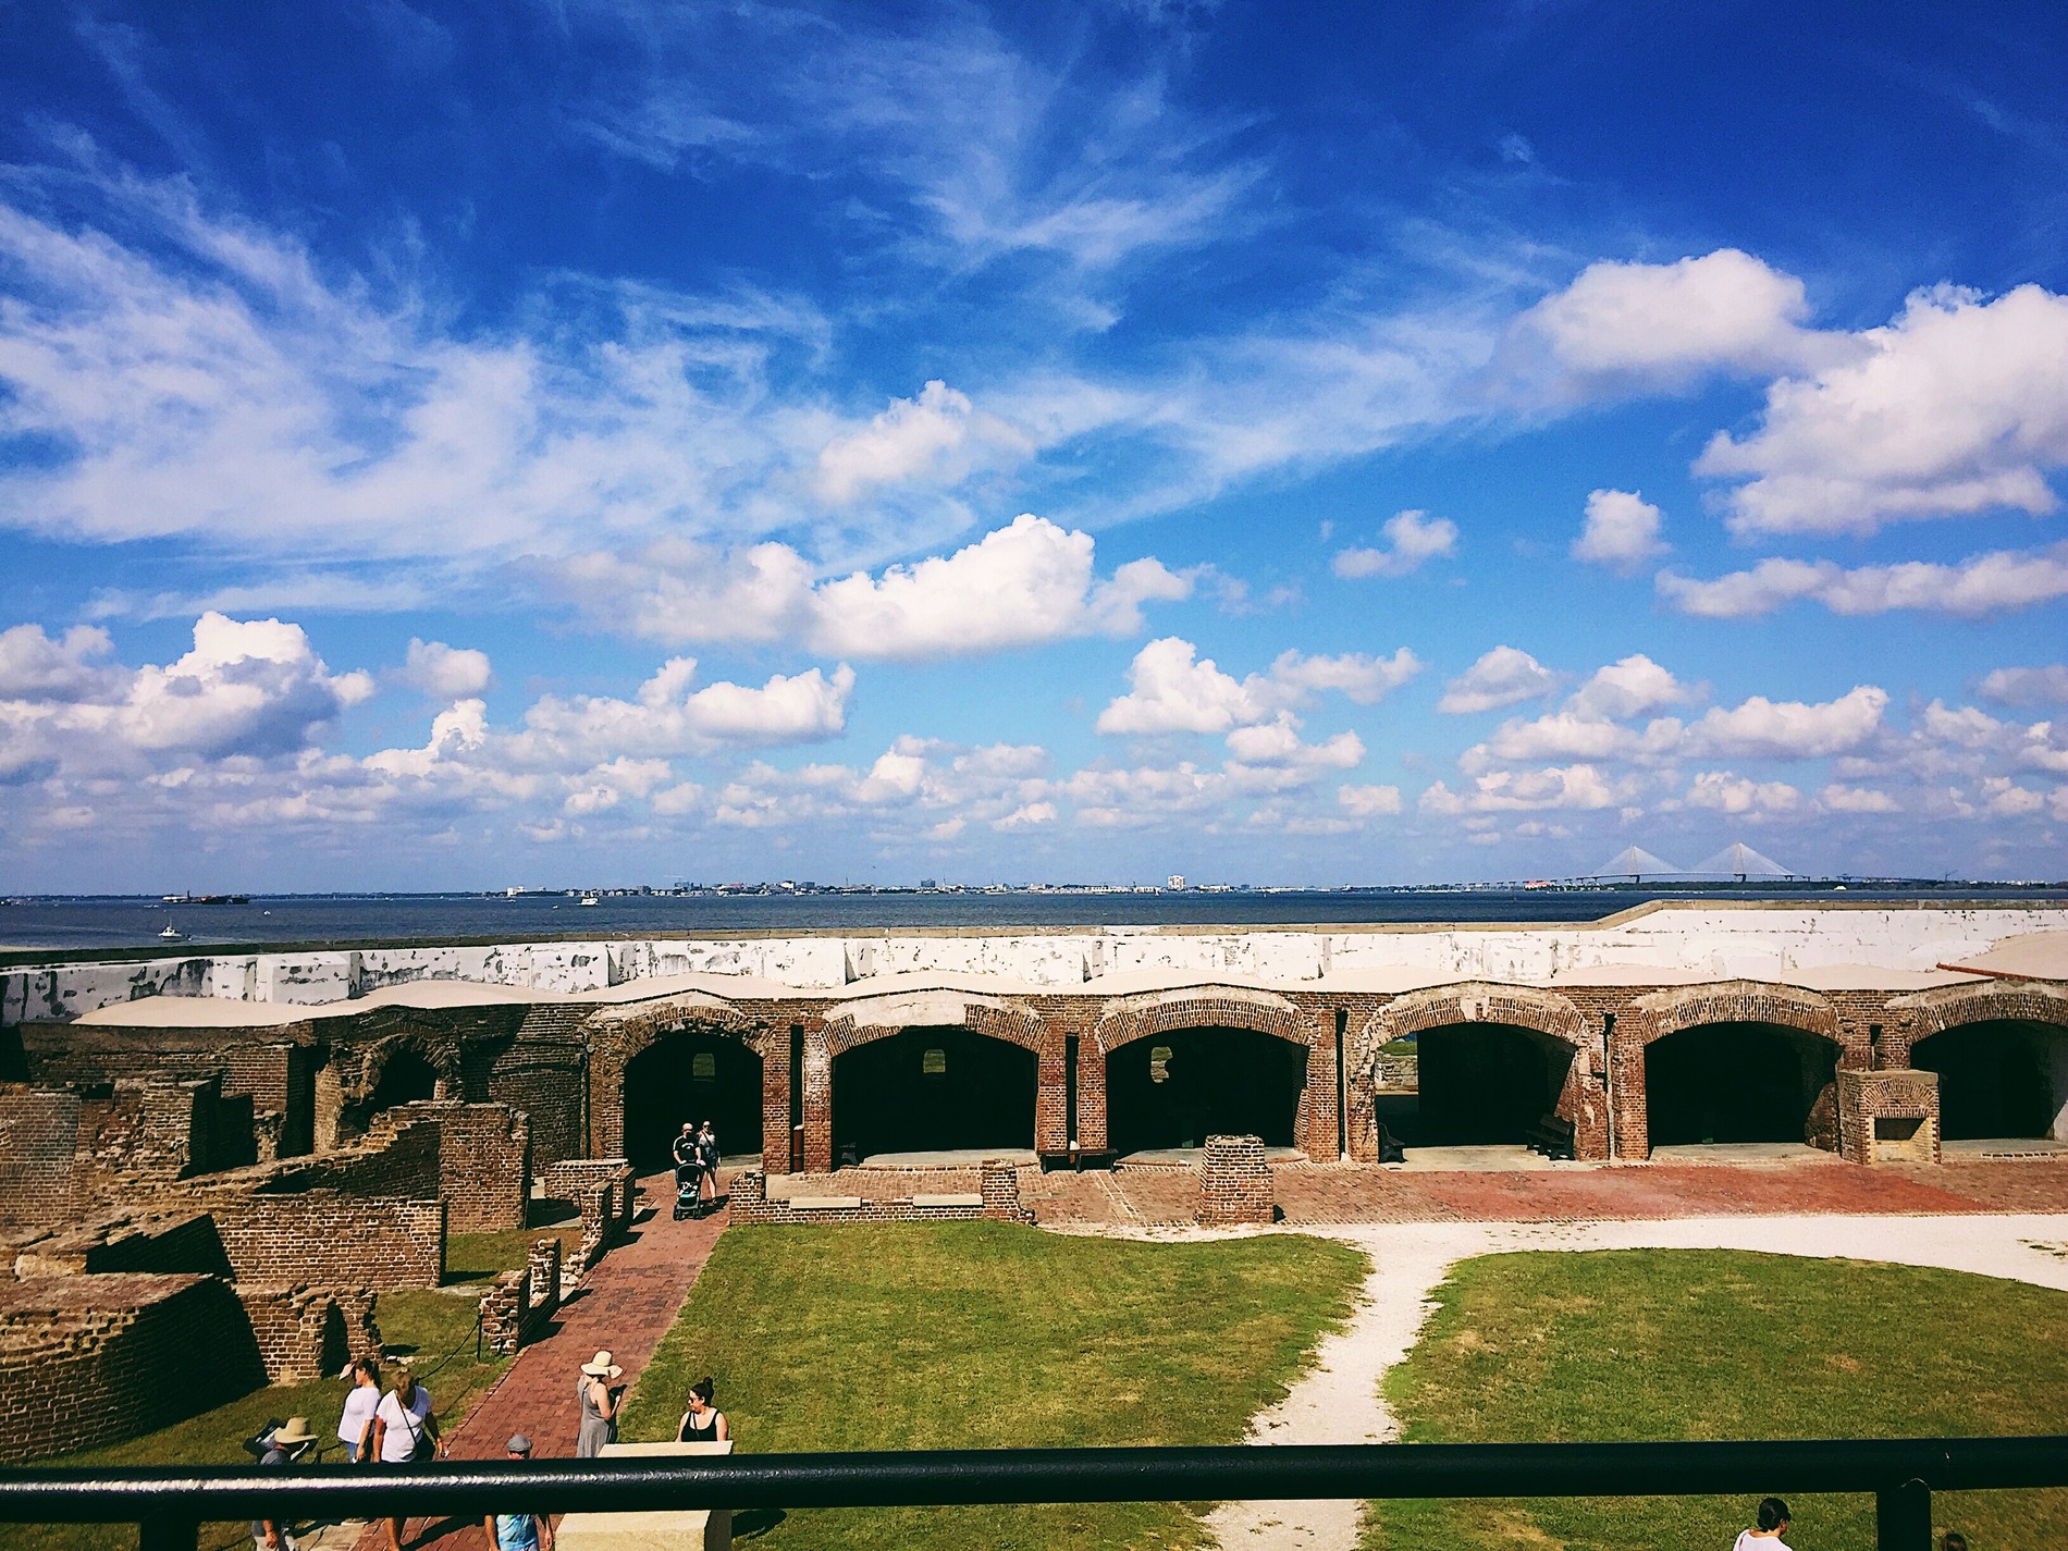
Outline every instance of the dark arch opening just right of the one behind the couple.
<svg viewBox="0 0 2068 1551"><path fill-rule="evenodd" d="M1032 1051L968 1028L906 1028L833 1057L833 1158L1034 1146Z"/></svg>

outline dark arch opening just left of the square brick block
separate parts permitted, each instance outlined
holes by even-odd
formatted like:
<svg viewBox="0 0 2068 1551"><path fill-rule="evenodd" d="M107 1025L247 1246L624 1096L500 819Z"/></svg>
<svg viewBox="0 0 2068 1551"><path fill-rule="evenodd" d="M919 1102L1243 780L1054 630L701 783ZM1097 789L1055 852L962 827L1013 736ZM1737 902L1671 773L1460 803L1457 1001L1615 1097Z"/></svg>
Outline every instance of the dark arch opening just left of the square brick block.
<svg viewBox="0 0 2068 1551"><path fill-rule="evenodd" d="M1812 1142L1812 1111L1838 1046L1781 1024L1698 1024L1644 1046L1654 1148L1702 1142Z"/></svg>

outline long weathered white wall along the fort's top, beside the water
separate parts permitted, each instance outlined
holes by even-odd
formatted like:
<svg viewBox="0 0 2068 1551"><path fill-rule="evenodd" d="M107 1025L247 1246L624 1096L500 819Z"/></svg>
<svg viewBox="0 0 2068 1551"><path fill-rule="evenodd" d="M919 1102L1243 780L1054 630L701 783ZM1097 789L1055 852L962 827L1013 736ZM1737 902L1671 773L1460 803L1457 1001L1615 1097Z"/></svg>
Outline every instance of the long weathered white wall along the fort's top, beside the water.
<svg viewBox="0 0 2068 1551"><path fill-rule="evenodd" d="M1212 976L1264 986L1412 980L1557 984L1588 978L1787 980L1857 970L1859 984L1975 960L2035 933L2068 933L2060 904L1640 906L1599 922L1383 926L1084 926L1055 931L742 933L589 943L374 943L325 951L168 953L0 970L0 1022L68 1020L141 997L323 1005L416 980L577 995L658 976L738 976L827 993L908 974L984 976L1069 991L1129 976ZM1092 989L1092 986L1086 986Z"/></svg>

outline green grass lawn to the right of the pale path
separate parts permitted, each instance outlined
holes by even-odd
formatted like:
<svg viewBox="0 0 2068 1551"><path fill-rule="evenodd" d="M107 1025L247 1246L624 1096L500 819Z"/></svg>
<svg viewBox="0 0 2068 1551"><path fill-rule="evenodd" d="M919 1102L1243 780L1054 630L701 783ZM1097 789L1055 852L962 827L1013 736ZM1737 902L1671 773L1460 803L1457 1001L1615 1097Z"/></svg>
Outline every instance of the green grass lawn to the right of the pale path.
<svg viewBox="0 0 2068 1551"><path fill-rule="evenodd" d="M1929 1233L1919 1224L1919 1233ZM2068 1431L2068 1292L1739 1251L1472 1259L1386 1396L1408 1441ZM1874 1499L1789 1495L1797 1551L1874 1545ZM1375 1503L1367 1551L1725 1549L1745 1497ZM2068 1491L1940 1493L1975 1551L2068 1545Z"/></svg>

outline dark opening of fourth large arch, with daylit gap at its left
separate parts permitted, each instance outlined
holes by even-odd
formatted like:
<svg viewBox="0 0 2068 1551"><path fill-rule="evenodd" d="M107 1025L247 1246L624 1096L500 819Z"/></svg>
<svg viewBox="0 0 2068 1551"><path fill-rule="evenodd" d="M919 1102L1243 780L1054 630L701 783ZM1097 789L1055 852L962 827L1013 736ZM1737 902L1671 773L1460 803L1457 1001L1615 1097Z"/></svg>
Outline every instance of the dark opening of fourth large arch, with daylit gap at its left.
<svg viewBox="0 0 2068 1551"><path fill-rule="evenodd" d="M1415 1038L1417 1092L1377 1094L1408 1148L1522 1146L1557 1108L1574 1048L1516 1024L1446 1024Z"/></svg>

